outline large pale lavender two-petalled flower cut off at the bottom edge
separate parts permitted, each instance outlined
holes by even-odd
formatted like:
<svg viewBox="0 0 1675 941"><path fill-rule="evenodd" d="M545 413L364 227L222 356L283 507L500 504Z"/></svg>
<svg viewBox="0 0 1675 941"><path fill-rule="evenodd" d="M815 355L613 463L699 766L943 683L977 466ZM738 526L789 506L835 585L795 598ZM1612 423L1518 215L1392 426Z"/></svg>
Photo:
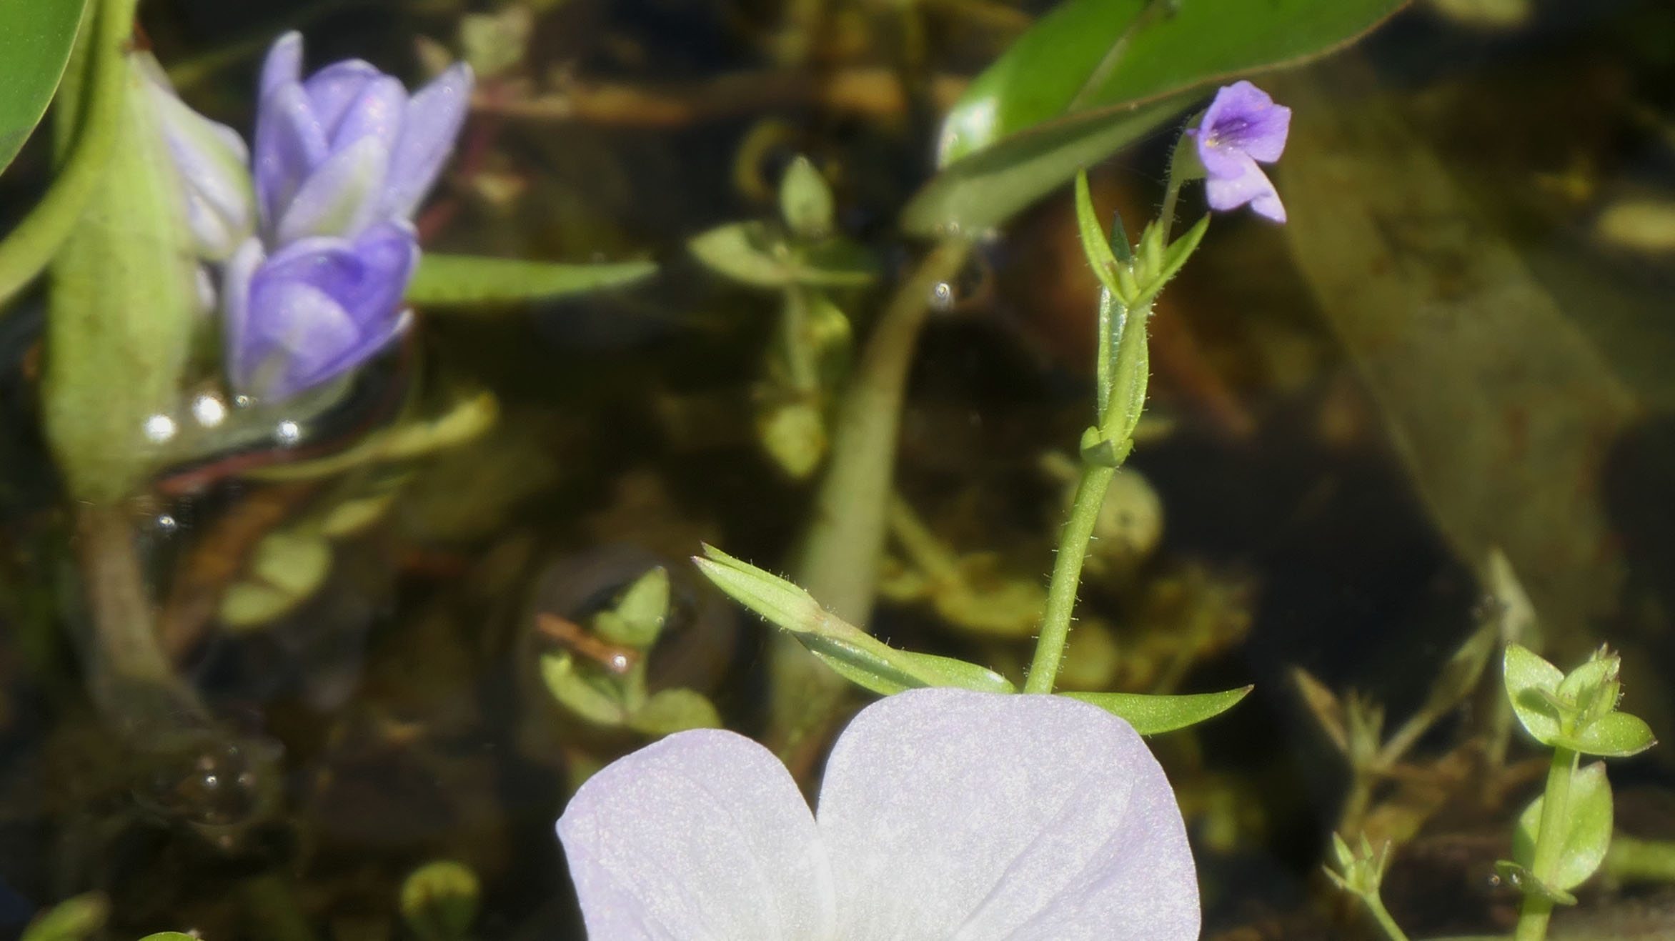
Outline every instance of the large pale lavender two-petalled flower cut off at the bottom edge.
<svg viewBox="0 0 1675 941"><path fill-rule="evenodd" d="M1064 697L910 690L861 710L811 814L720 730L598 772L558 820L596 941L1193 941L1198 877L1162 769Z"/></svg>

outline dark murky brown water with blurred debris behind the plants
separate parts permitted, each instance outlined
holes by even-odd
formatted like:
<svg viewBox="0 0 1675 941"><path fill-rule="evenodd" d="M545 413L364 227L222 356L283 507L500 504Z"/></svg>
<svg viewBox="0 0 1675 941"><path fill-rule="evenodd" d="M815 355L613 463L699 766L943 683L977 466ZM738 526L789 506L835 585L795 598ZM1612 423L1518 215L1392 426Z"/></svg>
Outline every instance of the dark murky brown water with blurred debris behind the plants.
<svg viewBox="0 0 1675 941"><path fill-rule="evenodd" d="M472 119L420 218L427 243L650 256L663 271L578 301L425 316L402 365L374 368L310 444L353 442L402 370L492 392L499 420L353 481L395 497L275 620L234 628L194 591L241 578L218 563L342 491L219 484L149 507L179 668L246 752L281 748L278 762L206 755L159 780L89 707L69 527L32 417L40 315L0 321L0 931L100 889L112 938L400 938L402 879L451 857L482 881L477 936L580 936L551 824L580 769L636 740L551 702L531 620L583 618L652 564L677 589L655 683L707 690L734 727L759 728L764 628L683 559L710 541L782 568L811 486L764 457L752 424L774 300L709 275L683 241L770 216L804 152L843 229L899 273L923 248L893 221L930 172L946 89L1045 5L536 7L528 55L481 92L548 112ZM1491 546L1524 579L1549 653L1623 648L1625 705L1675 733L1675 12L1554 0L1482 22L1519 7L1422 3L1353 52L1265 80L1296 109L1276 172L1293 224L1218 219L1157 315L1157 422L1124 497L1139 536L1084 586L1080 681L1256 683L1233 713L1154 742L1198 839L1206 938L1350 936L1312 901L1330 897L1318 862L1347 772L1291 670L1362 690L1397 725L1484 616ZM457 54L461 15L497 8L151 0L142 22L184 97L248 134L256 62L281 27L307 33L312 64L365 57L417 80L415 37ZM1161 198L1166 152L1151 141L1097 174L1131 228ZM12 216L45 159L35 142L0 183ZM859 335L886 288L843 295ZM1069 199L987 241L955 288L915 367L899 487L946 546L997 551L993 578L1045 581L1062 496L1042 455L1070 452L1090 402L1094 281ZM884 603L874 628L1000 668L1027 658L923 599ZM1509 924L1489 874L1534 787L1514 743L1504 797L1479 799L1466 769L1482 702L1377 794L1392 830L1419 829L1385 896L1415 936ZM1670 755L1613 765L1623 830L1675 837ZM1590 918L1620 921L1571 936L1675 934L1660 899L1595 889Z"/></svg>

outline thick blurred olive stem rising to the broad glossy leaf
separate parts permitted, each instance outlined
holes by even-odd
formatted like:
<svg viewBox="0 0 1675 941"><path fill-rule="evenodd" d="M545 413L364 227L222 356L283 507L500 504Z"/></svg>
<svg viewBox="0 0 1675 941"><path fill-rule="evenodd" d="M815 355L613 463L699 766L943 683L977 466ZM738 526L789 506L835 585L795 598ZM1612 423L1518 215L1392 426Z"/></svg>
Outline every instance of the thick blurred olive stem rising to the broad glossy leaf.
<svg viewBox="0 0 1675 941"><path fill-rule="evenodd" d="M851 625L864 628L873 614L901 400L920 328L936 288L960 273L970 251L965 239L941 241L901 283L873 328L839 405L831 465L814 497L796 581ZM787 764L801 765L802 757L812 762L817 755L807 743L836 713L846 683L791 635L776 631L770 643L772 707L765 740Z"/></svg>

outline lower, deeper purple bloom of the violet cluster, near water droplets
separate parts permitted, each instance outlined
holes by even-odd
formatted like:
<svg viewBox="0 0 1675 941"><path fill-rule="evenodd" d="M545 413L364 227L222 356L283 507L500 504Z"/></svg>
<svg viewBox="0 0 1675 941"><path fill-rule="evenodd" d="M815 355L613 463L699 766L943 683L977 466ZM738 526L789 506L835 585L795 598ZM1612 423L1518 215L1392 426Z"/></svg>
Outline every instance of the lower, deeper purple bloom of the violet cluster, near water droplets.
<svg viewBox="0 0 1675 941"><path fill-rule="evenodd" d="M348 372L412 320L402 293L419 263L405 219L357 238L310 236L271 256L250 239L223 281L226 373L233 390L281 400Z"/></svg>

